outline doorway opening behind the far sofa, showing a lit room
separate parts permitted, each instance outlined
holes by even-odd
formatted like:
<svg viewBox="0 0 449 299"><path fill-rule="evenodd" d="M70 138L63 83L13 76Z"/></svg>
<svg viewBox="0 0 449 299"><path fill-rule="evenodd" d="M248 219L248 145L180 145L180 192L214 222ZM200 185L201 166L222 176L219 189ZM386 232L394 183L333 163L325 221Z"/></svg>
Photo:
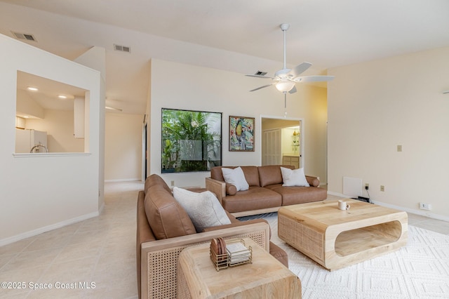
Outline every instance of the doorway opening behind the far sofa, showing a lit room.
<svg viewBox="0 0 449 299"><path fill-rule="evenodd" d="M302 119L262 116L261 165L304 167L304 134Z"/></svg>

